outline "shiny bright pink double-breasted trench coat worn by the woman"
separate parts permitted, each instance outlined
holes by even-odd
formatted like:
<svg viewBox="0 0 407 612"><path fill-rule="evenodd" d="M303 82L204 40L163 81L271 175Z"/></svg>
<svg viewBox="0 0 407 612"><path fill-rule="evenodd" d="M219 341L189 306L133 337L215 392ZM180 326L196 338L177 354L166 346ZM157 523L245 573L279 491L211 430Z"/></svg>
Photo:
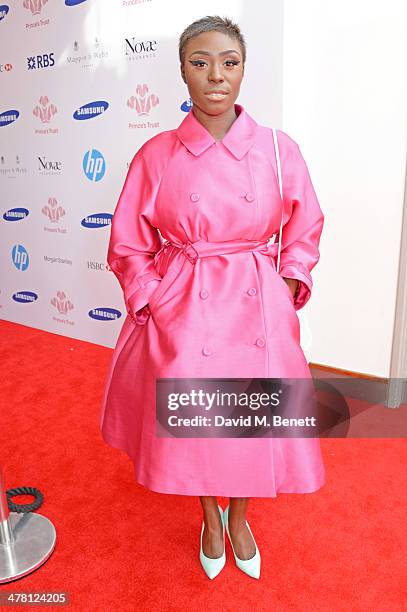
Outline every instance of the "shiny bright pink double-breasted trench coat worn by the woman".
<svg viewBox="0 0 407 612"><path fill-rule="evenodd" d="M241 105L235 110L221 142L190 111L177 129L145 142L130 165L107 257L128 315L100 428L153 491L310 493L325 482L319 438L155 433L158 377L311 376L296 311L311 295L324 215L298 145L278 130L284 228L277 273L277 242L267 242L282 214L273 133ZM295 300L282 276L301 281Z"/></svg>

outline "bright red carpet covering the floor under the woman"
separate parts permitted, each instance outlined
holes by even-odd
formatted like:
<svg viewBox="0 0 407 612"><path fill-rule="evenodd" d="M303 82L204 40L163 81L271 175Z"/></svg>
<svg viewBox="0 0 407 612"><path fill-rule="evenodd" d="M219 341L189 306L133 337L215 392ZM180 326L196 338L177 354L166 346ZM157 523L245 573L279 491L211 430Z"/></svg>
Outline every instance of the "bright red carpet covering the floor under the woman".
<svg viewBox="0 0 407 612"><path fill-rule="evenodd" d="M101 439L112 351L7 322L0 335L6 487L40 489L37 512L57 530L48 561L0 592L64 591L70 604L59 609L86 612L407 610L405 440L322 439L322 489L250 501L261 579L237 569L227 542L211 581L198 557L199 499L145 489Z"/></svg>

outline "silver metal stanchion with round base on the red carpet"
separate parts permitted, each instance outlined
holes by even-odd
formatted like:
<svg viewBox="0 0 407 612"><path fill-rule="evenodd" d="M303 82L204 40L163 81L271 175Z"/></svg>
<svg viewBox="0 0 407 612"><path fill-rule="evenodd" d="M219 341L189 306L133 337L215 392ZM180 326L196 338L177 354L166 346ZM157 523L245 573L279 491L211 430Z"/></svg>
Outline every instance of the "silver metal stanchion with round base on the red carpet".
<svg viewBox="0 0 407 612"><path fill-rule="evenodd" d="M31 574L55 548L55 527L36 512L10 512L0 465L0 583Z"/></svg>

